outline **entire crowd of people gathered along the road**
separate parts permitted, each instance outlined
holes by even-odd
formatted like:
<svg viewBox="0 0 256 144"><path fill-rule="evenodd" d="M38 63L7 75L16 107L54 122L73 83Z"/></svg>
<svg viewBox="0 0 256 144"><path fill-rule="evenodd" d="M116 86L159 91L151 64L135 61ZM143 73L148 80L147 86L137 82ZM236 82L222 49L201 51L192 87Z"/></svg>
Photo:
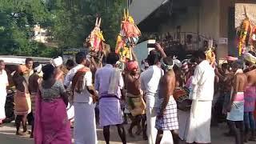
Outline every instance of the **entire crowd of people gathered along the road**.
<svg viewBox="0 0 256 144"><path fill-rule="evenodd" d="M45 66L27 58L26 65L18 66L13 75L16 134L30 134L36 144L69 144L74 117L75 144L96 144L98 121L106 144L110 143L110 126L117 126L125 144L123 125L130 118L130 137L134 137L136 126L136 135L142 133L149 144L160 144L166 130L174 144L180 139L210 143L210 125L216 117L216 103L222 99L227 135L234 136L236 144L255 141L254 52L243 54L242 60L228 56L226 63L217 66L215 58L207 60L203 50L181 62L166 56L156 43L142 62L142 70L136 54L132 55L134 60L126 62L125 70L118 68L118 54L112 52L103 58L103 67L98 67L89 54L79 52L75 55L77 65L68 60L66 70L61 57ZM9 83L4 69L0 60L0 123L5 118ZM31 111L30 132L26 121Z"/></svg>

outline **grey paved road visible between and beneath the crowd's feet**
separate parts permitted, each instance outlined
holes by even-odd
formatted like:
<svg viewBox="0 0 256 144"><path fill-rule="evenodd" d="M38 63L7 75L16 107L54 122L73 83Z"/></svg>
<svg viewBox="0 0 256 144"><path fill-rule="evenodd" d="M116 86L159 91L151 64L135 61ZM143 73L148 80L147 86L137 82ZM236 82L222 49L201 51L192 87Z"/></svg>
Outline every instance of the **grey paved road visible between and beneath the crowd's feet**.
<svg viewBox="0 0 256 144"><path fill-rule="evenodd" d="M127 126L126 126L127 128ZM222 134L225 132L226 126L220 125L218 127L211 128L212 143L213 144L234 144L234 138L224 137ZM18 137L15 134L14 123L5 124L0 127L0 143L1 144L33 144L33 139ZM98 128L98 144L104 144L102 129ZM142 141L142 136L137 136L136 138L130 138L127 135L127 140L129 144L146 144L146 141ZM121 144L120 138L118 137L116 127L111 127L110 129L110 143L111 144ZM181 142L184 144L185 142ZM248 142L246 144L255 144L256 142ZM166 144L166 143L165 143Z"/></svg>

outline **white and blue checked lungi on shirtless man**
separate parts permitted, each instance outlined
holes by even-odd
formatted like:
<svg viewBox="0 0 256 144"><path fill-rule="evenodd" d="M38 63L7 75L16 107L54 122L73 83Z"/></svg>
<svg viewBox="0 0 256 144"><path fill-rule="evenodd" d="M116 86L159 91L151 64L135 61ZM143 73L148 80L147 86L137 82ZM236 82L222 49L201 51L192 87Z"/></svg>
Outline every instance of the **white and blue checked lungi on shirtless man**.
<svg viewBox="0 0 256 144"><path fill-rule="evenodd" d="M159 99L158 114L160 113L163 98ZM156 118L155 128L158 130L178 130L177 104L173 96L170 96L162 118Z"/></svg>

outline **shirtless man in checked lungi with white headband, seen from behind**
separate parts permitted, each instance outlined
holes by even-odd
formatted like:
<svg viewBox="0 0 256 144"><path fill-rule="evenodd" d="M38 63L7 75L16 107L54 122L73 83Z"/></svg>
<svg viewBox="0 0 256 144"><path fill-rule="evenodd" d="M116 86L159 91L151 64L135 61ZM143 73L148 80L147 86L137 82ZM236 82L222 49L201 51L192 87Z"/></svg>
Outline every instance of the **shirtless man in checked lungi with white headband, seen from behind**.
<svg viewBox="0 0 256 144"><path fill-rule="evenodd" d="M158 130L156 144L160 144L163 130L170 130L174 144L178 144L179 142L177 104L173 97L176 83L173 66L174 62L171 57L163 58L162 67L166 72L159 82L159 106L158 116L155 122L155 127Z"/></svg>

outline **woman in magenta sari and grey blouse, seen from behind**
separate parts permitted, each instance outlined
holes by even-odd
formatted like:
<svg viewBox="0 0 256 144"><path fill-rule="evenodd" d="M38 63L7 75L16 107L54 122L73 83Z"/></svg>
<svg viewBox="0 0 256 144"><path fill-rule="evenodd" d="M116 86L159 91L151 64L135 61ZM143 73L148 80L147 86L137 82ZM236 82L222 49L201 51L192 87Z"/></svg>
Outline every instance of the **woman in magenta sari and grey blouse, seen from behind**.
<svg viewBox="0 0 256 144"><path fill-rule="evenodd" d="M70 122L66 114L66 91L54 78L54 66L42 67L43 81L36 97L35 144L71 144Z"/></svg>

